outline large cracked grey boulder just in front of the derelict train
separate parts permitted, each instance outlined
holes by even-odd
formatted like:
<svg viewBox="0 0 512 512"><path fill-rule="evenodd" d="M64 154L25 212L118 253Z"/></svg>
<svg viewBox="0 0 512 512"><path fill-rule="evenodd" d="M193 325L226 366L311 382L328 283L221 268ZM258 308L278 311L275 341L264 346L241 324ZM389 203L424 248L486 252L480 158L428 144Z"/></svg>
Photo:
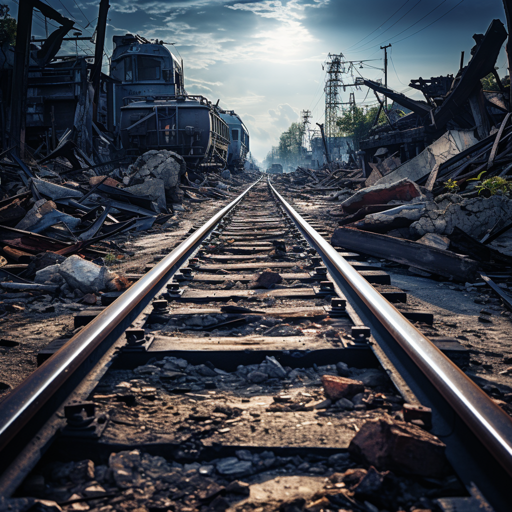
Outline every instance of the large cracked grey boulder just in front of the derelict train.
<svg viewBox="0 0 512 512"><path fill-rule="evenodd" d="M177 153L167 150L146 151L129 167L129 171L130 185L144 183L154 178L162 180L169 202L180 202L179 181L180 177L186 173L186 164L183 157Z"/></svg>

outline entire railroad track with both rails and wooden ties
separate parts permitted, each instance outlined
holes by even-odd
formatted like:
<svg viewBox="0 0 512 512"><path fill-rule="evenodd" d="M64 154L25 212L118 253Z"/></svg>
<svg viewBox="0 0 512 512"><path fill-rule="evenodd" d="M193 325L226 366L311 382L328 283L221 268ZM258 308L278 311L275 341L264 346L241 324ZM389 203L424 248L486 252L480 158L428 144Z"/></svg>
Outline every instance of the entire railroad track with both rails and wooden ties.
<svg viewBox="0 0 512 512"><path fill-rule="evenodd" d="M297 210L261 179L155 255L121 296L104 294L103 309L78 314L84 327L43 351L0 403L0 494L106 511L134 501L126 489L151 483L153 494L141 491L137 502L150 510L254 509L230 481L261 487L271 475L272 490L254 498L262 510L292 506L283 505L291 490L306 501L323 493L311 510L429 508L434 499L442 510L484 501L509 510L510 418L408 321L432 323L429 312L408 308L386 272L333 249ZM359 384L350 400L331 392L326 401L322 375ZM323 383L327 390L329 377ZM347 452L351 439L384 416L425 432L425 467L429 450L446 444L442 475L421 460L410 471L391 464L407 499L378 486L358 492L352 480L362 473L346 473L362 467ZM83 459L96 471L72 464ZM173 475L166 484L162 467ZM344 480L331 476L342 471Z"/></svg>

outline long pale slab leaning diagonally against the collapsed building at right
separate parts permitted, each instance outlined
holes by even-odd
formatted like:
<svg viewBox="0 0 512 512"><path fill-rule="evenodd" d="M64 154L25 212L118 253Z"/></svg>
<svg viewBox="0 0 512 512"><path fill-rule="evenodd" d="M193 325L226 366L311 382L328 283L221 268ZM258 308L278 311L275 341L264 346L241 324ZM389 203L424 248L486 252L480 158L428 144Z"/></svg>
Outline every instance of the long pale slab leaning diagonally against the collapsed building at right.
<svg viewBox="0 0 512 512"><path fill-rule="evenodd" d="M404 178L418 181L432 169L478 142L473 130L449 130L416 157L403 163L390 174L379 178L376 185L390 185Z"/></svg>

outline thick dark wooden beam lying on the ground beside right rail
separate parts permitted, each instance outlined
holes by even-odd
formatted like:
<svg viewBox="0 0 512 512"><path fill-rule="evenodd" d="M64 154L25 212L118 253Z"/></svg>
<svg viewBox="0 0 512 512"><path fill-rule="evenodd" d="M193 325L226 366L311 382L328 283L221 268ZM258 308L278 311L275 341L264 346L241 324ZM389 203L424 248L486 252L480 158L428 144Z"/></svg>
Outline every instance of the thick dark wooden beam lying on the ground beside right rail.
<svg viewBox="0 0 512 512"><path fill-rule="evenodd" d="M473 282L477 271L475 261L453 252L349 227L335 229L331 244L348 250L365 252L377 258L386 258L403 265L412 265L461 282Z"/></svg>

